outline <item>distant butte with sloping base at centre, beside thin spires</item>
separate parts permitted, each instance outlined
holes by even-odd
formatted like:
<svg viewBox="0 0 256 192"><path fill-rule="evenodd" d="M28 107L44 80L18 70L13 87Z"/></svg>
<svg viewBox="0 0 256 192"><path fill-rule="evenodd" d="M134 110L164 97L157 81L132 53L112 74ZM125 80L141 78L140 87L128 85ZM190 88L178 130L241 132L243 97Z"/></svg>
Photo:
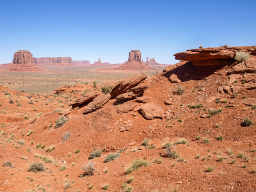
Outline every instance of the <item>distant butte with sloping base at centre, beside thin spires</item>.
<svg viewBox="0 0 256 192"><path fill-rule="evenodd" d="M118 67L120 70L153 70L154 68L146 65L141 61L141 52L139 50L132 50L129 52L128 61L124 65Z"/></svg>

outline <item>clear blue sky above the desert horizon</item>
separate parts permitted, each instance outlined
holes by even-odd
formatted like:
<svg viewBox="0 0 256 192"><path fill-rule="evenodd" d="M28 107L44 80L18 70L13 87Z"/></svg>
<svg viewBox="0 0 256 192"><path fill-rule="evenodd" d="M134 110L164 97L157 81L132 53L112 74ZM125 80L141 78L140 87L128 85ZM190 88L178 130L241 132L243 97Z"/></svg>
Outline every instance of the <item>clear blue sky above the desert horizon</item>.
<svg viewBox="0 0 256 192"><path fill-rule="evenodd" d="M122 63L131 49L145 61L177 63L176 52L256 45L256 0L0 0L0 63L20 49Z"/></svg>

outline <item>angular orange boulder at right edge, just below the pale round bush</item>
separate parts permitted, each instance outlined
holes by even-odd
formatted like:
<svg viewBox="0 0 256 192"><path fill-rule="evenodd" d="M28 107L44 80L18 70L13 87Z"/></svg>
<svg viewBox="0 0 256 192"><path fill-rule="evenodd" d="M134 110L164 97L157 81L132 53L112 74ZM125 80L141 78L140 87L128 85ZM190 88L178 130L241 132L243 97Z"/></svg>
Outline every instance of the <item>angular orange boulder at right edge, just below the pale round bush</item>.
<svg viewBox="0 0 256 192"><path fill-rule="evenodd" d="M231 68L230 73L256 72L256 58L251 57Z"/></svg>

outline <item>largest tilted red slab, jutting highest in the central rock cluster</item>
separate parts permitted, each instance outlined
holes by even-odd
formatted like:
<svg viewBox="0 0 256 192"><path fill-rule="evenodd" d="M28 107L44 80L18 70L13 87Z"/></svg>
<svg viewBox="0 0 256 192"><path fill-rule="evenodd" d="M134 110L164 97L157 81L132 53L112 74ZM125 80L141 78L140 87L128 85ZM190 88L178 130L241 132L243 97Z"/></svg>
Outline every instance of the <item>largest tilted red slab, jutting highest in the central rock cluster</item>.
<svg viewBox="0 0 256 192"><path fill-rule="evenodd" d="M136 74L134 76L131 76L127 79L124 79L120 83L116 84L116 86L112 89L110 95L111 99L115 98L118 95L121 95L122 93L127 92L134 86L138 85L141 81L146 79L147 76L143 73Z"/></svg>

